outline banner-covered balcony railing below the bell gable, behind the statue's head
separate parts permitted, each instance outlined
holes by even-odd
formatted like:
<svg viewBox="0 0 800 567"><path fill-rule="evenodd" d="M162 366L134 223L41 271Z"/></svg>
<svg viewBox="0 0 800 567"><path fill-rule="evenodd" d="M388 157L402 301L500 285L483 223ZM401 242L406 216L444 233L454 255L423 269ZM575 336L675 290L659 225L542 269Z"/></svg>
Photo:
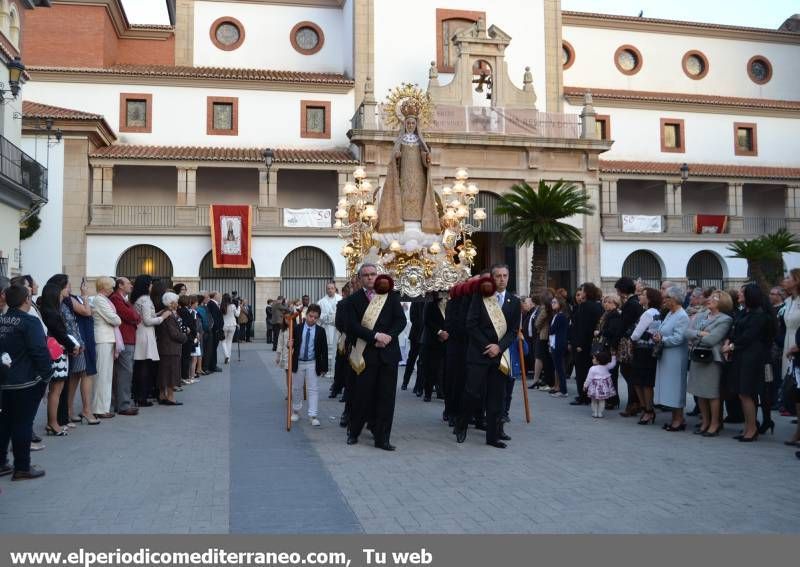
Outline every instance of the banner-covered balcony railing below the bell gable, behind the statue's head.
<svg viewBox="0 0 800 567"><path fill-rule="evenodd" d="M366 112L369 112L369 107L364 105L356 110L351 120L351 127L354 130L365 128L368 123ZM377 105L374 112L377 130L397 129L389 126L389 117L384 105ZM431 124L425 131L578 139L581 136L581 120L577 114L539 112L527 108L439 104L436 105Z"/></svg>

